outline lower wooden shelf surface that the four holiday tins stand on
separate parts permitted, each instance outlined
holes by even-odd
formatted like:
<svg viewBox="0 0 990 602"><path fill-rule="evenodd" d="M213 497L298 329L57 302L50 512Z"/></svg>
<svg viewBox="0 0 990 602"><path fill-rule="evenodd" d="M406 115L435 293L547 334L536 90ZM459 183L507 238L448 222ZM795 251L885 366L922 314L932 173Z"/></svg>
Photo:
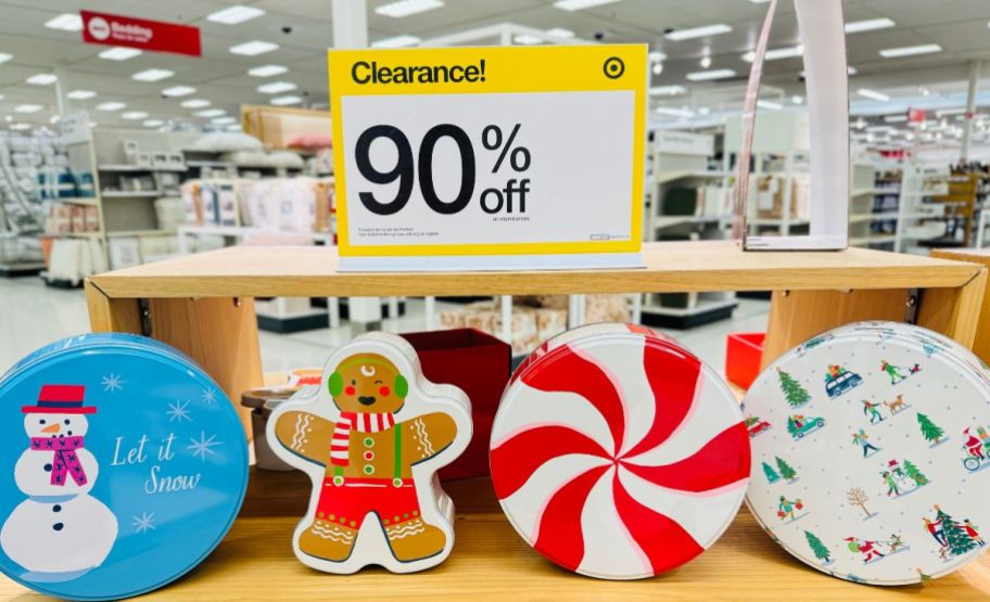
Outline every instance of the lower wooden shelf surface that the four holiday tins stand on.
<svg viewBox="0 0 990 602"><path fill-rule="evenodd" d="M308 503L300 472L253 471L241 517L198 568L142 598L168 601L389 600L987 600L990 556L928 584L871 587L814 571L763 533L745 509L707 552L667 575L602 581L571 574L526 546L502 513L491 482L446 484L457 509L456 543L436 568L411 575L364 569L318 573L292 553L292 531ZM21 594L26 594L21 597ZM0 600L47 600L0 577Z"/></svg>

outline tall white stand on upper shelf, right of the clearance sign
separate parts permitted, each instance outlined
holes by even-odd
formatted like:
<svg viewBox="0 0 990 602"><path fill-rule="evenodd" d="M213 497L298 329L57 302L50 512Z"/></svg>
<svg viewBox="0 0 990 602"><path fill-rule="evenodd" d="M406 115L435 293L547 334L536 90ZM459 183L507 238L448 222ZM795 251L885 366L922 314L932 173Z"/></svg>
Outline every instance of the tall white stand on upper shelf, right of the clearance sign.
<svg viewBox="0 0 990 602"><path fill-rule="evenodd" d="M742 144L736 159L733 238L744 251L838 251L849 246L849 76L841 0L795 0L804 44L811 141L811 227L802 236L747 232L749 163L763 59L777 0L772 0L757 44L742 108ZM785 213L790 207L784 207Z"/></svg>

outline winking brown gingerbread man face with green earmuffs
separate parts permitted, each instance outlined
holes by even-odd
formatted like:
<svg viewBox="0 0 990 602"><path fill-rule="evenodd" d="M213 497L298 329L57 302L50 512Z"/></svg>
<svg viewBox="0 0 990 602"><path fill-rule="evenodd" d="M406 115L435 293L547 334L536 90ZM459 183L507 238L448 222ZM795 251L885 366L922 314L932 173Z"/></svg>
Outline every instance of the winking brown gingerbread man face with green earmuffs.
<svg viewBox="0 0 990 602"><path fill-rule="evenodd" d="M327 379L327 388L342 412L397 412L409 381L389 359L357 354L344 359Z"/></svg>

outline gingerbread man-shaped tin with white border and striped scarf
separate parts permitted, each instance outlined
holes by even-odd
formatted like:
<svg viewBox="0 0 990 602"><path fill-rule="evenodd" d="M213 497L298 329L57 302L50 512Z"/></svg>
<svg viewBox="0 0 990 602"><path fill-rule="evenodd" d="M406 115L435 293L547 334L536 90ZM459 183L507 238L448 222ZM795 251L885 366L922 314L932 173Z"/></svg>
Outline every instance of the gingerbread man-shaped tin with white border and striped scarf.
<svg viewBox="0 0 990 602"><path fill-rule="evenodd" d="M454 546L454 504L435 472L467 448L471 406L427 381L405 340L370 333L337 350L317 395L281 404L271 449L313 479L295 555L328 573L380 565L409 573Z"/></svg>

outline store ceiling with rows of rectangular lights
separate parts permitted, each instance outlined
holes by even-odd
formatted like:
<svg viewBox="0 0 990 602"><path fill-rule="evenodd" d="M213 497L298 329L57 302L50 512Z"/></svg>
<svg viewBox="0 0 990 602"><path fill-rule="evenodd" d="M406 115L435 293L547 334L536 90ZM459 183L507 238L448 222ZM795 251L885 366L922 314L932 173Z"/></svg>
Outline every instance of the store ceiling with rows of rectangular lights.
<svg viewBox="0 0 990 602"><path fill-rule="evenodd" d="M711 99L715 90L725 102L745 84L749 63L741 55L751 50L765 14L766 4L750 0L621 0L611 4L568 12L553 7L553 0L446 0L443 8L416 15L394 18L377 14L375 9L390 0L368 0L368 26L372 41L397 35L432 38L498 23L515 23L538 29L563 27L584 39L600 34L604 41L646 42L668 57L663 72L653 76L655 86L678 84L689 94L661 102L697 104ZM206 20L206 15L232 4L263 9L266 14L237 25ZM965 89L967 61L987 60L986 81L990 82L990 0L847 0L847 22L888 17L896 26L847 36L849 63L858 71L850 89L859 108L884 112L884 103L860 99L860 88L879 90L903 101L919 95L927 86L957 102ZM129 111L147 113L147 119L179 118L206 123L181 102L205 99L211 107L237 116L240 104L262 104L280 94L263 93L257 87L272 81L289 81L299 88L289 94L305 103L327 102L325 50L332 44L329 0L92 0L82 7L136 17L172 21L202 28L203 57L144 53L127 61L98 57L106 47L81 42L79 31L65 31L43 26L62 13L80 9L78 2L65 0L0 0L0 52L13 59L0 64L0 115L12 115L15 121L43 123L56 112L53 86L34 86L25 80L38 73L58 69L68 90L92 90L97 97L69 101L71 108L87 108L92 118L104 125L140 125L120 116ZM664 38L668 29L683 29L726 24L732 31L684 41ZM288 30L288 33L287 33ZM239 56L231 46L265 40L279 49L258 56ZM798 43L792 4L784 0L771 39L771 48ZM884 59L886 48L938 43L942 51L902 59ZM689 72L701 71L702 57L711 57L710 68L729 68L733 79L693 84L685 79ZM266 64L283 65L288 73L267 78L252 77L248 69ZM130 76L149 68L164 68L175 76L157 82L135 81ZM801 94L798 79L800 59L769 62L764 82L778 95ZM195 93L182 98L163 98L161 90L172 86L191 86ZM285 94L282 92L281 94ZM103 112L96 106L111 101L125 103L124 110ZM891 101L893 106L894 101ZM706 101L707 102L707 101ZM15 113L15 106L38 104L36 113ZM854 104L854 108L858 106ZM866 108L863 108L866 107ZM0 121L0 126L3 121Z"/></svg>

